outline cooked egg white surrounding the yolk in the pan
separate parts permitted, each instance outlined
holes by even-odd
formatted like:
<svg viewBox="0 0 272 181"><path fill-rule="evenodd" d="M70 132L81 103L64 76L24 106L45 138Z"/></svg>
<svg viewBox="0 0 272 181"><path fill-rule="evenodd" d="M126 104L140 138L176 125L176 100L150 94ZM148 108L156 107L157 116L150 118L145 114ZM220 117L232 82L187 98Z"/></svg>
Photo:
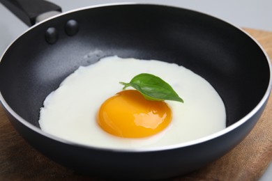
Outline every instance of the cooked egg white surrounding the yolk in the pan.
<svg viewBox="0 0 272 181"><path fill-rule="evenodd" d="M154 136L123 139L108 134L96 122L100 105L121 91L119 81L129 82L150 73L170 84L184 103L166 101L172 123ZM40 128L75 143L99 148L151 148L208 136L226 125L225 106L208 81L174 63L110 56L80 67L45 99L40 109Z"/></svg>

